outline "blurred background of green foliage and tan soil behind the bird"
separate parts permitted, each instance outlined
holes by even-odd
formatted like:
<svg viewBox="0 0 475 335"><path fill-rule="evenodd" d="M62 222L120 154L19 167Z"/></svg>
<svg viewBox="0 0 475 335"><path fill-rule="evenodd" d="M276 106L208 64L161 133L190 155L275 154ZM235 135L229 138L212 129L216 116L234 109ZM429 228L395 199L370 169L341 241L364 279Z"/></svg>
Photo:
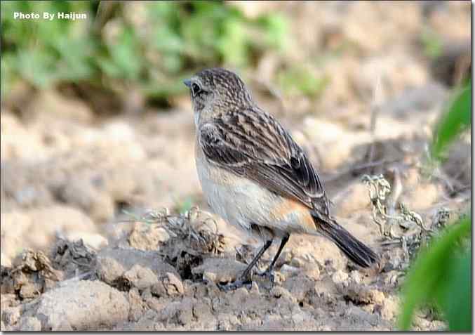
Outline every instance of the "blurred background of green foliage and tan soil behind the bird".
<svg viewBox="0 0 475 335"><path fill-rule="evenodd" d="M103 245L124 209L206 209L182 84L204 67L290 129L335 214L370 220L361 176L394 171L424 218L467 206L469 133L426 158L470 25L467 1L1 1L2 265L58 235Z"/></svg>

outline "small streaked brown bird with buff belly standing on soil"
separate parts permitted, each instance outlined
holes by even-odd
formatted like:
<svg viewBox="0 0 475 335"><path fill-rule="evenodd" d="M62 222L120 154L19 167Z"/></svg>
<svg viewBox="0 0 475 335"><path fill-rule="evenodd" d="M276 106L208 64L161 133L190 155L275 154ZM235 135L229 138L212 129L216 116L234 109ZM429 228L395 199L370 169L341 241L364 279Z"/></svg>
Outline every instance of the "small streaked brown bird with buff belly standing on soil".
<svg viewBox="0 0 475 335"><path fill-rule="evenodd" d="M262 110L237 74L215 67L186 79L194 112L195 161L212 211L253 236L262 248L234 282L251 282L254 265L274 239L279 248L260 274L274 282L274 265L290 234L320 235L367 268L377 254L337 223L314 166L277 119Z"/></svg>

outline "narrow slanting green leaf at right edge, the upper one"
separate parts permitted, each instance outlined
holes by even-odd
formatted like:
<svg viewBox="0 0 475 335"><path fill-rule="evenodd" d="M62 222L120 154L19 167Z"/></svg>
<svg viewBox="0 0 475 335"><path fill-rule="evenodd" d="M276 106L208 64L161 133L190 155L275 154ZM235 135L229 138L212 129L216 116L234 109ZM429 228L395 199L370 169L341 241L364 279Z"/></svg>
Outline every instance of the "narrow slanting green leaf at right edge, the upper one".
<svg viewBox="0 0 475 335"><path fill-rule="evenodd" d="M455 93L436 129L434 143L432 143L432 157L441 159L447 145L465 129L471 122L471 81Z"/></svg>

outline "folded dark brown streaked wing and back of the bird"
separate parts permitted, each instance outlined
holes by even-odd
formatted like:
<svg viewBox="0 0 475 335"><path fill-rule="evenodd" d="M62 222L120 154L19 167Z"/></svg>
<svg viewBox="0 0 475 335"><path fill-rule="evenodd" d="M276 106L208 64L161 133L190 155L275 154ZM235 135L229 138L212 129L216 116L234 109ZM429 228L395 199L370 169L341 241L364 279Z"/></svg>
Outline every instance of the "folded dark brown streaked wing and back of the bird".
<svg viewBox="0 0 475 335"><path fill-rule="evenodd" d="M211 164L254 180L268 190L328 215L328 199L312 164L272 115L227 112L199 126Z"/></svg>

